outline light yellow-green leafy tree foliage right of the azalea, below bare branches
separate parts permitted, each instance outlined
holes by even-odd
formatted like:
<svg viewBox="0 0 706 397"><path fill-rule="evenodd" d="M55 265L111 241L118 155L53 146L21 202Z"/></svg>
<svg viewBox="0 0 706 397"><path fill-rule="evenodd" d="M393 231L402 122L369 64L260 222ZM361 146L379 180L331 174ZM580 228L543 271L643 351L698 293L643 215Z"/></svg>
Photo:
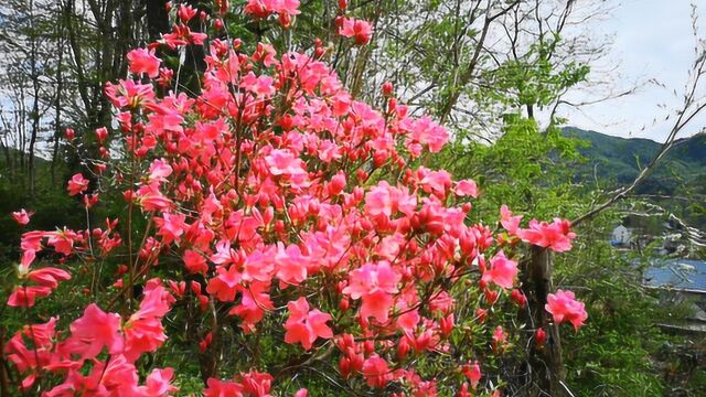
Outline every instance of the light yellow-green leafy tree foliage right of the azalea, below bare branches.
<svg viewBox="0 0 706 397"><path fill-rule="evenodd" d="M502 204L537 218L570 218L586 210L588 203L576 200L582 186L563 167L578 157L578 142L556 128L541 132L535 120L518 115L506 115L504 121L493 144L457 141L440 157L440 167L479 183L477 216L486 218Z"/></svg>

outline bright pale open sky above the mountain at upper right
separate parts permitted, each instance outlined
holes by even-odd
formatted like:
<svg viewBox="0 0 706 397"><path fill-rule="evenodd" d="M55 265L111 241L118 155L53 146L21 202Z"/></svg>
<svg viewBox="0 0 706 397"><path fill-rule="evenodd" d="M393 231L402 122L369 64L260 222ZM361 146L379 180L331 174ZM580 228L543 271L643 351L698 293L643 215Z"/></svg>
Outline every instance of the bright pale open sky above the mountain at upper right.
<svg viewBox="0 0 706 397"><path fill-rule="evenodd" d="M696 3L700 35L706 37L706 1ZM614 93L631 87L637 92L580 111L565 109L568 125L624 138L664 141L673 117L666 122L664 118L681 107L695 60L691 14L688 0L622 0L606 18L593 21L595 32L613 37L606 58L595 67L596 76L609 78ZM649 83L650 79L663 86ZM702 84L705 86L706 82ZM570 99L597 98L589 90L573 93ZM699 116L678 137L696 133L705 126L706 115Z"/></svg>

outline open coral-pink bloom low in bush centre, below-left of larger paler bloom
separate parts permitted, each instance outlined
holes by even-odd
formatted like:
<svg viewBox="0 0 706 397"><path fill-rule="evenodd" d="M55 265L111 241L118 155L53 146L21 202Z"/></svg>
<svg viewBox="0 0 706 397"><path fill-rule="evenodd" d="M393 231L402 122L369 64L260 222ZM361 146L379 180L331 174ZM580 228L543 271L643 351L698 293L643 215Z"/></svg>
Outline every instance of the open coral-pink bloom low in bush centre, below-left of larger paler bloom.
<svg viewBox="0 0 706 397"><path fill-rule="evenodd" d="M287 333L285 342L301 343L304 350L310 350L317 339L331 339L333 332L327 325L331 320L331 314L322 313L318 309L309 310L309 302L304 297L287 303L289 319L285 323Z"/></svg>

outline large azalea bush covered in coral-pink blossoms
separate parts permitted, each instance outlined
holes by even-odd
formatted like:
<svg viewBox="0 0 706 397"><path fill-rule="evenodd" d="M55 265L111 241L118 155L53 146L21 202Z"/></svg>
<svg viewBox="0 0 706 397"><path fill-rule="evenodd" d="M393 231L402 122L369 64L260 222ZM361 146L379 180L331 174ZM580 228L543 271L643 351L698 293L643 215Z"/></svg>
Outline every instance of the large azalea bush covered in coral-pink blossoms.
<svg viewBox="0 0 706 397"><path fill-rule="evenodd" d="M117 128L95 131L100 158L67 182L86 228L23 234L3 315L26 324L2 341L7 384L44 396L499 396L523 341L543 348L546 328L584 324L564 290L541 308L547 322L518 320L518 262L532 246L570 249L567 221L502 206L498 225L468 224L475 182L424 165L450 139L442 126L408 115L389 83L381 109L356 100L318 40L278 54L228 37L229 4L216 3L211 18L173 7L173 32L131 51L129 78L107 85ZM340 47L357 51L374 31L339 3ZM299 1L242 11L290 35ZM157 56L193 46L206 52L199 93ZM116 202L119 217L95 218Z"/></svg>

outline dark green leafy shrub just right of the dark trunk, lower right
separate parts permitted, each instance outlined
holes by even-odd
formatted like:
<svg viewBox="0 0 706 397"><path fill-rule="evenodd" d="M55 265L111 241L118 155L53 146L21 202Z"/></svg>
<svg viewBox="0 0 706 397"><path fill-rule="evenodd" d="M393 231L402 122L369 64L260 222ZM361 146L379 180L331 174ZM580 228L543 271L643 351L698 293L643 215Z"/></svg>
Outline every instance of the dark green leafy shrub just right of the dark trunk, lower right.
<svg viewBox="0 0 706 397"><path fill-rule="evenodd" d="M603 216L591 228L617 219ZM579 333L564 333L567 382L578 395L653 396L664 389L651 356L667 336L655 319L667 318L640 281L641 268L618 254L588 227L575 249L556 261L556 278L566 286L580 286L589 322ZM598 234L601 236L605 234Z"/></svg>

